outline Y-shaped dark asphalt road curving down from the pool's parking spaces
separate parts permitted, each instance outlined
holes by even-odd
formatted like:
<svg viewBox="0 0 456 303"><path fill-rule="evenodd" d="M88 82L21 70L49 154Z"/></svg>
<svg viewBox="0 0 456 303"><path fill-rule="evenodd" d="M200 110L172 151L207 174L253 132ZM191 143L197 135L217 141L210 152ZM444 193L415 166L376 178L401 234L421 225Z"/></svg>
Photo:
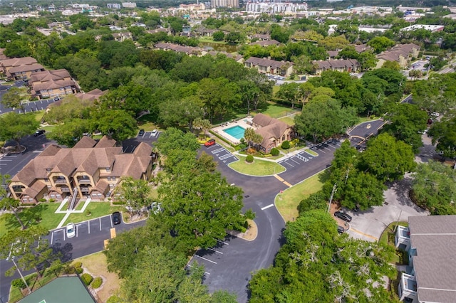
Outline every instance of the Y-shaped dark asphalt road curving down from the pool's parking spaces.
<svg viewBox="0 0 456 303"><path fill-rule="evenodd" d="M340 145L340 142L338 144ZM276 253L284 243L282 232L285 222L274 206L275 196L289 188L287 184L297 184L326 169L331 164L336 148L336 143L328 147L314 147L318 156L306 154L307 158L312 157L309 161L301 160L296 155L289 156L281 163L286 167L286 171L279 174L284 181L274 176L254 177L239 174L227 166L235 160L224 156L227 153L222 151L218 144L202 148L214 157L218 163L217 168L226 176L229 184L242 187L244 210L252 208L256 214L254 221L258 228L258 236L253 241L228 235L217 247L200 250L194 255L190 265L193 262L204 265L204 284L208 286L209 292L226 289L237 294L238 302L247 302L247 285L252 272L271 266Z"/></svg>

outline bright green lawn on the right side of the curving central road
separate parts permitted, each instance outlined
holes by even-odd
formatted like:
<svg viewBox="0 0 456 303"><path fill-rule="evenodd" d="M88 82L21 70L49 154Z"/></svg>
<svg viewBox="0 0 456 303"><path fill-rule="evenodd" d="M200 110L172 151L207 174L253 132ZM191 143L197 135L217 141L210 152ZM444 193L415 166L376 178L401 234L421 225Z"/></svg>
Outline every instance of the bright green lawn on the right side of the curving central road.
<svg viewBox="0 0 456 303"><path fill-rule="evenodd" d="M303 199L323 188L323 183L320 181L321 174L323 173L311 176L276 196L276 208L286 222L298 218L298 206Z"/></svg>

